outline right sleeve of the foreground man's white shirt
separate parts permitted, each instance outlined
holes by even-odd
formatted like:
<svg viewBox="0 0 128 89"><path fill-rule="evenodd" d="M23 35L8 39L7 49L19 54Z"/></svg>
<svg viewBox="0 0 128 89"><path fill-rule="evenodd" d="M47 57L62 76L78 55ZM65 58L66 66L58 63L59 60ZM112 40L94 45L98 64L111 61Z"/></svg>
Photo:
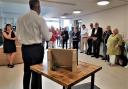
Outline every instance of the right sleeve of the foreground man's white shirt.
<svg viewBox="0 0 128 89"><path fill-rule="evenodd" d="M40 23L39 24L40 24L40 31L41 31L41 34L43 36L43 40L49 41L51 38L51 35L50 35L49 30L48 30L48 26L42 17L40 17Z"/></svg>

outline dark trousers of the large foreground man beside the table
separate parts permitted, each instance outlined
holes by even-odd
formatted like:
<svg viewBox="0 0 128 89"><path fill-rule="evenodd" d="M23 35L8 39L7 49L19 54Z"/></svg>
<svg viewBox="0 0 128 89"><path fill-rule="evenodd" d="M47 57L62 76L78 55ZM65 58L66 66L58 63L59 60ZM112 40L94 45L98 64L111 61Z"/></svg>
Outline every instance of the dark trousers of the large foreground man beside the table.
<svg viewBox="0 0 128 89"><path fill-rule="evenodd" d="M41 44L22 45L22 57L24 61L23 89L42 89L41 75L30 70L30 66L41 64L44 57L44 47Z"/></svg>

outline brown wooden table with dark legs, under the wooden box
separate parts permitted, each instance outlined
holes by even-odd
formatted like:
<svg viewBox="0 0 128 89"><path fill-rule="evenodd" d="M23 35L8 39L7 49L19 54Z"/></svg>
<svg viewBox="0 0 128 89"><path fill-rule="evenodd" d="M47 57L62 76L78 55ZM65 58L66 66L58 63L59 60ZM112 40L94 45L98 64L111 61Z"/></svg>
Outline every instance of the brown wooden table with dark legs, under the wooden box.
<svg viewBox="0 0 128 89"><path fill-rule="evenodd" d="M48 71L47 65L33 65L31 70L59 83L63 89L71 89L73 85L91 76L91 88L94 89L95 73L102 69L102 67L79 62L77 71L71 72L66 69L58 68L56 71Z"/></svg>

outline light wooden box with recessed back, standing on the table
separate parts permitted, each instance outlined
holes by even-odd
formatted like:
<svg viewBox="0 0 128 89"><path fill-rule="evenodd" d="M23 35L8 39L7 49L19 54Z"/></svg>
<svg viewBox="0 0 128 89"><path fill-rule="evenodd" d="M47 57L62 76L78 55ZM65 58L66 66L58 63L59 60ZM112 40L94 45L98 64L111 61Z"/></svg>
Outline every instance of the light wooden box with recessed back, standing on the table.
<svg viewBox="0 0 128 89"><path fill-rule="evenodd" d="M72 72L77 69L76 49L48 49L48 70L65 68Z"/></svg>

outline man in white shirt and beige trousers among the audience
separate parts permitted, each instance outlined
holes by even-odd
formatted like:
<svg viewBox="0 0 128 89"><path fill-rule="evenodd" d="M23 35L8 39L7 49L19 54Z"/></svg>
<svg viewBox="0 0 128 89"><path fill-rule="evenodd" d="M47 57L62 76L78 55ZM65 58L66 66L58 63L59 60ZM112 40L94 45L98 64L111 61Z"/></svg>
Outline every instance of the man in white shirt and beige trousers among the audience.
<svg viewBox="0 0 128 89"><path fill-rule="evenodd" d="M87 40L88 40L88 29L86 28L86 26L83 24L82 25L82 29L81 29L81 52L87 52ZM85 47L85 50L84 50Z"/></svg>

